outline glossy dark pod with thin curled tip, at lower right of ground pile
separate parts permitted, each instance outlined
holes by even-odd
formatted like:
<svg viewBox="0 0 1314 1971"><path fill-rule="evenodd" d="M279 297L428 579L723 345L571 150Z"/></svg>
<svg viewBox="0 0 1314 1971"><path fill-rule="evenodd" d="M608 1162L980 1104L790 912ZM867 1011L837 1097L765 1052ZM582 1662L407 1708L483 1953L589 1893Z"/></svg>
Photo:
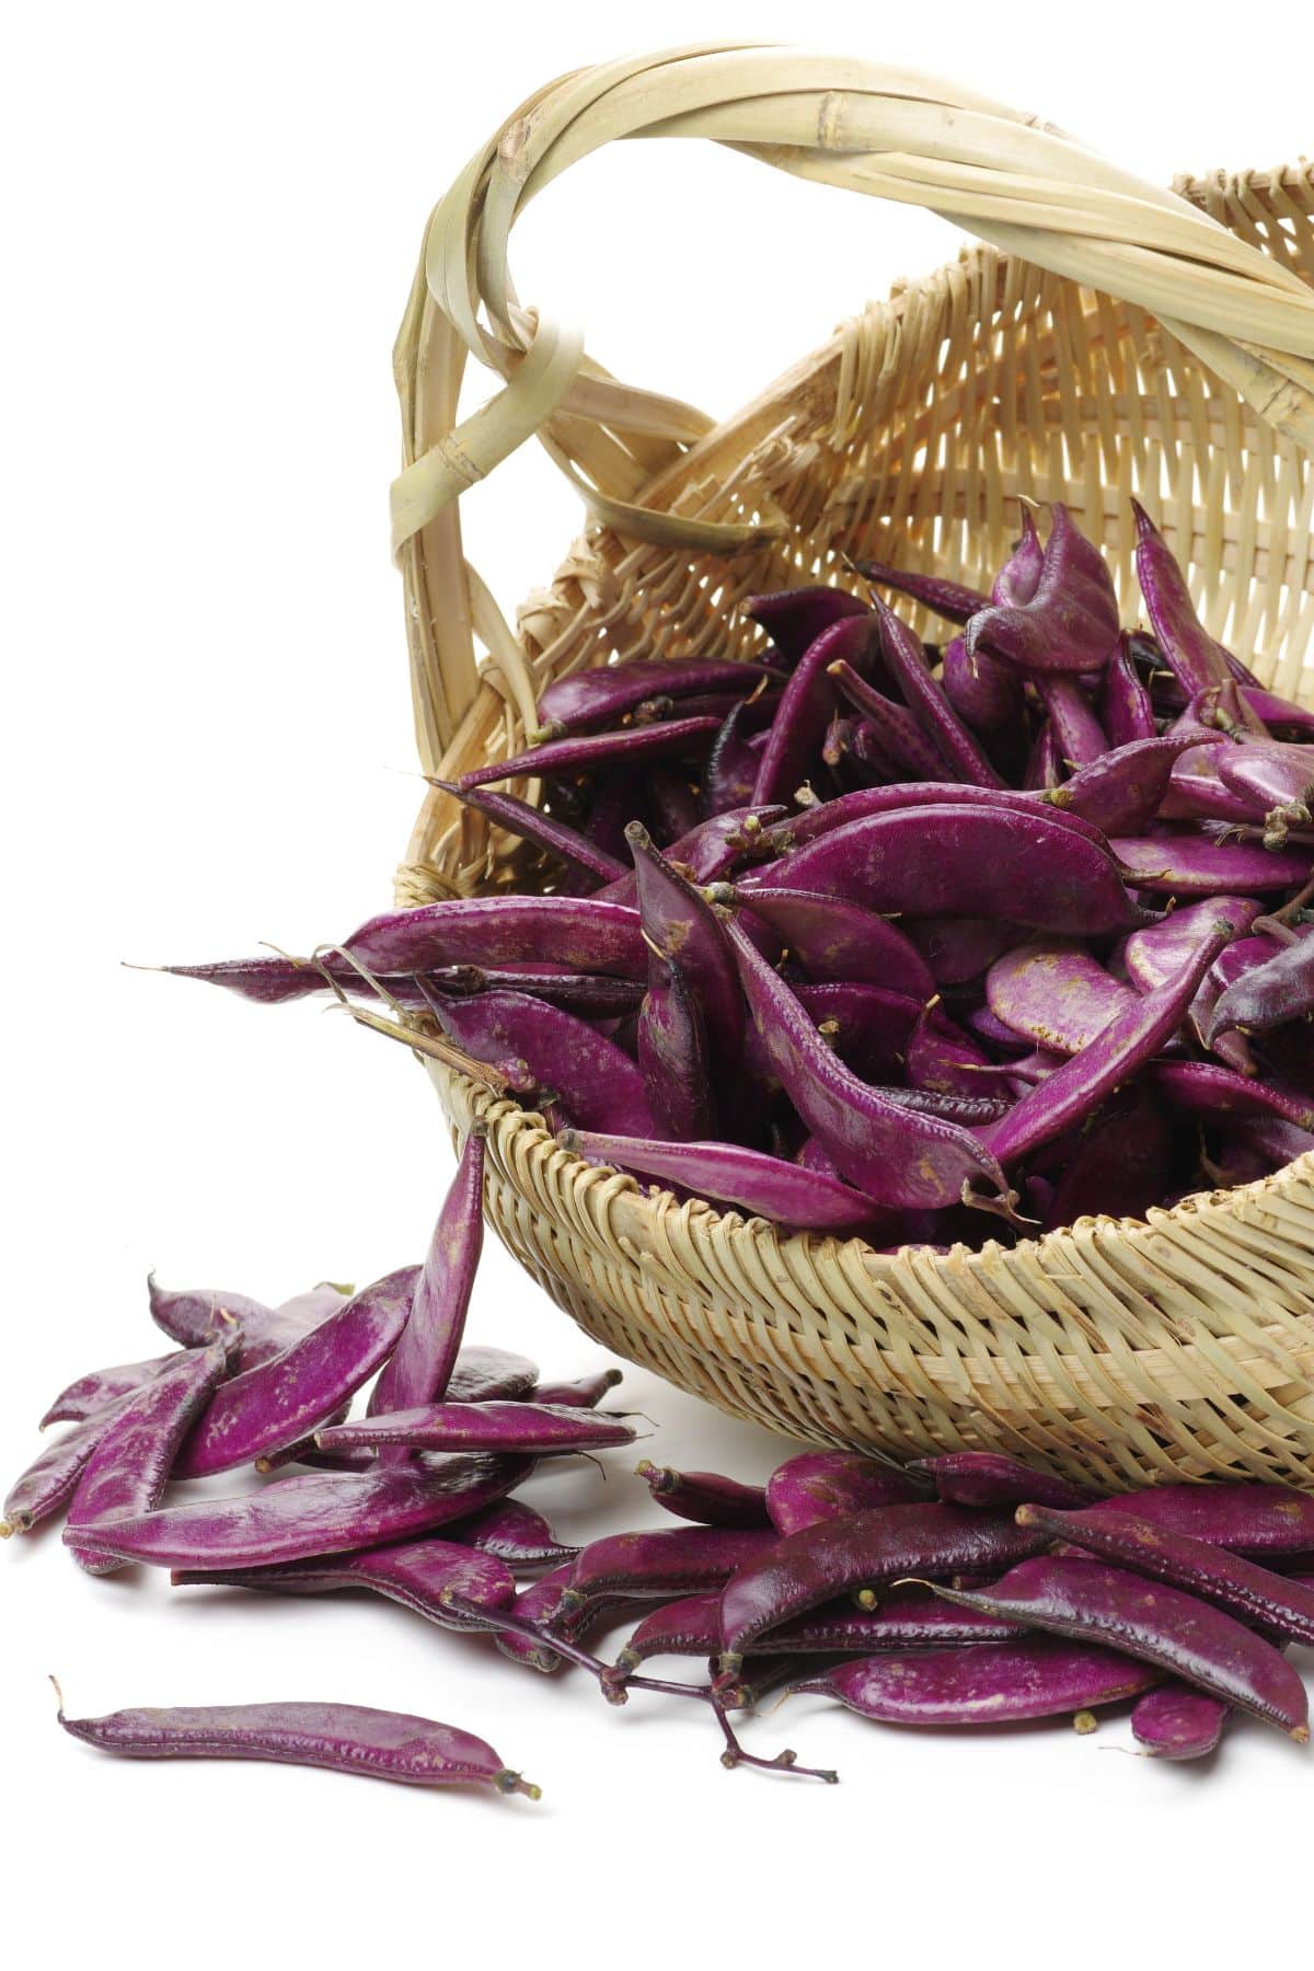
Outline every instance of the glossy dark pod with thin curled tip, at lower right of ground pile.
<svg viewBox="0 0 1314 1971"><path fill-rule="evenodd" d="M959 1608L983 1608L1078 1642L1107 1642L1308 1742L1308 1697L1290 1664L1235 1616L1182 1589L1068 1557L1022 1561L989 1589L932 1587Z"/></svg>

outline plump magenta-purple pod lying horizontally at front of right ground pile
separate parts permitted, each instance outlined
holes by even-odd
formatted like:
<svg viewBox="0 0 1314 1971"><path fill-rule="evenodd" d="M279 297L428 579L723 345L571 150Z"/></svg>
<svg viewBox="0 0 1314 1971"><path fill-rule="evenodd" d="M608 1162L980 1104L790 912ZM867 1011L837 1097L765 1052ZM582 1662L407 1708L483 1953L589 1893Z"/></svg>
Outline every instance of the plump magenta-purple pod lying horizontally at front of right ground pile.
<svg viewBox="0 0 1314 1971"><path fill-rule="evenodd" d="M1026 1640L859 1658L792 1691L835 1697L881 1725L1018 1725L1139 1697L1158 1675L1117 1650Z"/></svg>

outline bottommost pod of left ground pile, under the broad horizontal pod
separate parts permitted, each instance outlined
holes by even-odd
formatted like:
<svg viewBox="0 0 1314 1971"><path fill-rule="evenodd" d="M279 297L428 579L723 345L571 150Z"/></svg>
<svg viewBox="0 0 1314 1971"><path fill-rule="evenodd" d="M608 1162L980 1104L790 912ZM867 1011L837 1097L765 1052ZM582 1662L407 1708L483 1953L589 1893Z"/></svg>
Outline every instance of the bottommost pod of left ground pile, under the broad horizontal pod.
<svg viewBox="0 0 1314 1971"><path fill-rule="evenodd" d="M473 1551L453 1539L414 1539L398 1547L370 1547L362 1553L313 1555L284 1567L234 1567L229 1571L179 1567L175 1589L264 1589L270 1595L329 1595L337 1589L370 1589L400 1602L441 1628L469 1624L447 1606L443 1591L453 1591L481 1608L508 1608L516 1583L506 1561L491 1551Z"/></svg>

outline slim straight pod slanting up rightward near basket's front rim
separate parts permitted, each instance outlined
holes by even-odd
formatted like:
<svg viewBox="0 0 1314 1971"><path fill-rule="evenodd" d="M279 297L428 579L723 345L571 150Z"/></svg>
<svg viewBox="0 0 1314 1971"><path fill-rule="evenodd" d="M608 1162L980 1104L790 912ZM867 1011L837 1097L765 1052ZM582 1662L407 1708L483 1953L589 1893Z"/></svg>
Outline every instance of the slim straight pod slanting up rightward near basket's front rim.
<svg viewBox="0 0 1314 1971"><path fill-rule="evenodd" d="M1050 1143L1085 1121L1105 1096L1143 1068L1182 1025L1196 987L1223 944L1237 936L1237 926L1239 917L1219 913L1176 978L1115 1013L1089 1047L1020 1096L1003 1121L989 1123L981 1135L993 1155L1011 1163Z"/></svg>

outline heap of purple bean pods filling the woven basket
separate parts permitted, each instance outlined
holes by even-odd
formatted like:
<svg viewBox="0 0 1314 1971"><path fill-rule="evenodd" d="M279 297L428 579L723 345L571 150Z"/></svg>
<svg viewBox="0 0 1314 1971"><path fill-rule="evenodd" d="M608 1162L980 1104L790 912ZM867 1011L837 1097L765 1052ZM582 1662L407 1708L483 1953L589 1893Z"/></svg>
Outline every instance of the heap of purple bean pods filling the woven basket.
<svg viewBox="0 0 1314 1971"><path fill-rule="evenodd" d="M441 782L534 895L173 970L337 989L581 1157L887 1252L1265 1177L1314 1147L1314 714L1137 524L1147 633L1054 505L989 595L861 564L944 648L804 587L745 605L760 662L559 678L530 751Z"/></svg>

